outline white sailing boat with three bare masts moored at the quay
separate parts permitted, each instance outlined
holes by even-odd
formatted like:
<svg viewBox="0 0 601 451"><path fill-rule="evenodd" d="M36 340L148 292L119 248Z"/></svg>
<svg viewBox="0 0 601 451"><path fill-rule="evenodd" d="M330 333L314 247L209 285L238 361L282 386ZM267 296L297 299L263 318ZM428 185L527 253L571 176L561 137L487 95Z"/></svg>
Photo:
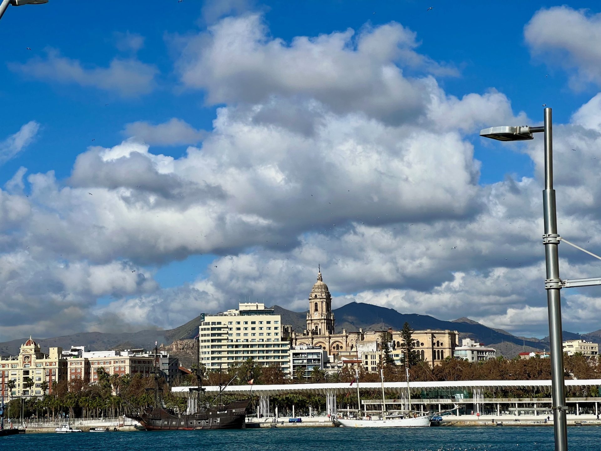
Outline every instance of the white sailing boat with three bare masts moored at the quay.
<svg viewBox="0 0 601 451"><path fill-rule="evenodd" d="M382 414L378 419L371 417L364 418L338 418L337 421L344 428L416 428L430 426L430 419L433 415L414 413L411 411L411 391L409 390L409 370L405 368L407 374L407 399L409 400L409 409L405 414L386 415L386 398L384 397L384 371L380 370L382 379ZM357 381L357 400L359 403L359 416L361 416L361 399L359 398L359 372L356 371Z"/></svg>

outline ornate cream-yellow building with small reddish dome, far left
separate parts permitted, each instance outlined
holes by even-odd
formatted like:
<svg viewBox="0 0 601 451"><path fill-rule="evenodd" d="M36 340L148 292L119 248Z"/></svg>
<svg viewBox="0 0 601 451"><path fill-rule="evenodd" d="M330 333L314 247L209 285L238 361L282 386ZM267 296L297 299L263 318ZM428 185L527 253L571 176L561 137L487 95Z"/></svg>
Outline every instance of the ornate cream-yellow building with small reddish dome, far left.
<svg viewBox="0 0 601 451"><path fill-rule="evenodd" d="M40 350L40 345L29 337L21 345L19 355L0 357L0 394L10 396L43 396L52 393L53 382L67 377L67 360L62 355L63 348L50 348L48 354ZM28 387L31 379L32 386ZM14 381L15 388L8 389L8 382ZM46 390L43 390L47 385ZM10 391L10 393L9 393Z"/></svg>

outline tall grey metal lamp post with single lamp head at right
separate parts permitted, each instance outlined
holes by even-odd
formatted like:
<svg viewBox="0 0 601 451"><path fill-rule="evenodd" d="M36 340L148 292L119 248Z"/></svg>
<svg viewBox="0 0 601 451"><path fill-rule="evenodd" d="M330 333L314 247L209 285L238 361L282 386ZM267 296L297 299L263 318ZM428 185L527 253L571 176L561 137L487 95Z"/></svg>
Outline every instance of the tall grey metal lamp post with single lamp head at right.
<svg viewBox="0 0 601 451"><path fill-rule="evenodd" d="M553 138L551 108L545 108L544 127L491 127L480 131L480 136L499 141L532 140L532 133L545 133L545 189L543 190L543 216L545 219L545 261L547 277L547 303L549 311L549 337L551 339L551 377L555 451L567 451L566 396L564 394L563 340L561 337L560 262L557 233L557 209L553 189Z"/></svg>

